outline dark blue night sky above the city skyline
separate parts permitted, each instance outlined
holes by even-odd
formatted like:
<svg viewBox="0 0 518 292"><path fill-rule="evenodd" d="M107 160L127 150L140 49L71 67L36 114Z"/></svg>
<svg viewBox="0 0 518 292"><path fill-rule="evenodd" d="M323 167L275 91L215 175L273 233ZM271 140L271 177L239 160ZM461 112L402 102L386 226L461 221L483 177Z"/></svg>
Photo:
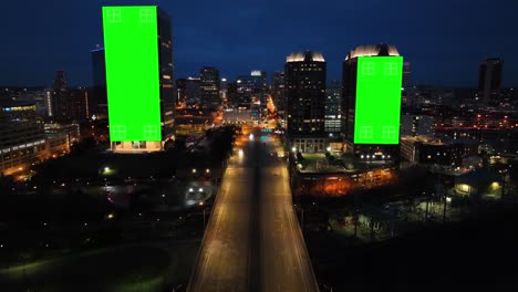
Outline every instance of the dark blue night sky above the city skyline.
<svg viewBox="0 0 518 292"><path fill-rule="evenodd" d="M235 80L282 70L293 51L328 61L328 81L360 44L396 45L414 83L477 86L479 61L504 59L504 86L518 85L516 0L17 0L0 15L0 84L50 86L58 69L91 85L90 50L102 44L101 7L158 4L173 17L175 79L204 65Z"/></svg>

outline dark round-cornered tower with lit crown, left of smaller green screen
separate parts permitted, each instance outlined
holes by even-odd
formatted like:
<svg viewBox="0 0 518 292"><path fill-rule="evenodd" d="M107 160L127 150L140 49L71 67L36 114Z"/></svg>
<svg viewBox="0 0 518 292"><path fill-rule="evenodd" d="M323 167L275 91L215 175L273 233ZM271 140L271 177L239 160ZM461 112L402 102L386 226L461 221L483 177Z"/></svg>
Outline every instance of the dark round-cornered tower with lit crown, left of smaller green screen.
<svg viewBox="0 0 518 292"><path fill-rule="evenodd" d="M324 152L325 60L314 51L291 53L284 79L291 145L302 153Z"/></svg>

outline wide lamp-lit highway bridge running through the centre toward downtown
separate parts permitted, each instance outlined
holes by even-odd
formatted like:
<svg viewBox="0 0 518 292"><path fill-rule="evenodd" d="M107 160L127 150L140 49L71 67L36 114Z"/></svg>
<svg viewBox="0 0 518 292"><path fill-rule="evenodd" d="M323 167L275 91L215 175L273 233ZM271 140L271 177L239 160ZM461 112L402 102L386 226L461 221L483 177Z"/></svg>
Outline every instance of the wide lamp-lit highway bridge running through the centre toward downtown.
<svg viewBox="0 0 518 292"><path fill-rule="evenodd" d="M229 159L187 291L319 291L280 142L255 134Z"/></svg>

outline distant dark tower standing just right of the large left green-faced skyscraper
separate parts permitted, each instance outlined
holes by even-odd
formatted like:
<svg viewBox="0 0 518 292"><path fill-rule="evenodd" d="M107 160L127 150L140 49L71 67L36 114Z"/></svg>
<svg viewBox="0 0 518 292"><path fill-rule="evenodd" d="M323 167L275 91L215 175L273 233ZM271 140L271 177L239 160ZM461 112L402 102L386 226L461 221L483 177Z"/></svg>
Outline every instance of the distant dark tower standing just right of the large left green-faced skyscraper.
<svg viewBox="0 0 518 292"><path fill-rule="evenodd" d="M203 67L199 72L201 104L209 109L217 109L221 105L219 96L219 71L211 66Z"/></svg>

